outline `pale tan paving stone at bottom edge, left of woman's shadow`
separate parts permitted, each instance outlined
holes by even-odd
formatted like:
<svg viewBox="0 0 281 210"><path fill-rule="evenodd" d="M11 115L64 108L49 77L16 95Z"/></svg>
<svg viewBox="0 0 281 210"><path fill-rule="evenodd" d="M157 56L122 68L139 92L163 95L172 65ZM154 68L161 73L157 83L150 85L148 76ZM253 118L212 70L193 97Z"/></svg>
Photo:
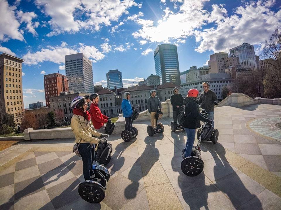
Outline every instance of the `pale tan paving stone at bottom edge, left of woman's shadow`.
<svg viewBox="0 0 281 210"><path fill-rule="evenodd" d="M36 201L36 202L34 202ZM15 210L28 210L28 209L40 209L40 210L53 210L54 206L48 196L46 190L42 190L35 194L26 196L15 202Z"/></svg>

